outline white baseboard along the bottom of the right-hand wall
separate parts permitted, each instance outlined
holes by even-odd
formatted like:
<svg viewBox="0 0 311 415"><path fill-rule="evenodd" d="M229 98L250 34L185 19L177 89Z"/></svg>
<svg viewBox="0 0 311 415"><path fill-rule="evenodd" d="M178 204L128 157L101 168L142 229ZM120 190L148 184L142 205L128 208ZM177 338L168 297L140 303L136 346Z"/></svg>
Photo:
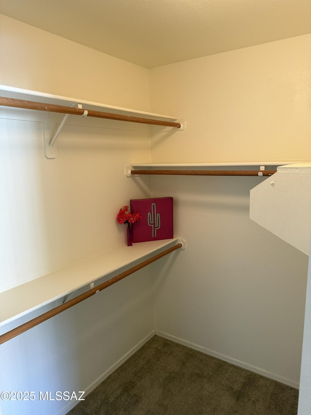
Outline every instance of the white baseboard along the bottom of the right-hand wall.
<svg viewBox="0 0 311 415"><path fill-rule="evenodd" d="M277 382L284 383L285 385L291 386L292 388L299 389L299 382L295 382L294 380L283 378L278 376L274 373L268 372L266 370L260 369L259 367L252 366L250 364L244 363L242 361L238 361L236 359L229 358L228 356L222 355L220 353L214 352L213 350L209 350L205 347L199 346L197 344L193 344L187 342L186 340L179 339L178 337L171 336L170 334L163 333L162 331L155 330L155 335L159 337L163 337L164 339L171 340L174 343L179 343L184 346L190 347L191 349L198 350L199 352L205 353L209 356L213 356L217 359L226 361L228 363L234 364L235 366L242 367L243 369L249 370L251 372L257 373L261 376L266 378L270 378L276 380Z"/></svg>

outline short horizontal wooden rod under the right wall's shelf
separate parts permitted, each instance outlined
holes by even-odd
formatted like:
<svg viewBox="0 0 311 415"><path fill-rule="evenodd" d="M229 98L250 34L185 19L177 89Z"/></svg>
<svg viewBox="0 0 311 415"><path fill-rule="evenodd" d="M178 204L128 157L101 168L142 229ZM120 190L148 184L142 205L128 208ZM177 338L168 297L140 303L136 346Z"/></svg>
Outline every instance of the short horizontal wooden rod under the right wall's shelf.
<svg viewBox="0 0 311 415"><path fill-rule="evenodd" d="M276 170L131 170L136 174L162 174L182 176L272 176Z"/></svg>

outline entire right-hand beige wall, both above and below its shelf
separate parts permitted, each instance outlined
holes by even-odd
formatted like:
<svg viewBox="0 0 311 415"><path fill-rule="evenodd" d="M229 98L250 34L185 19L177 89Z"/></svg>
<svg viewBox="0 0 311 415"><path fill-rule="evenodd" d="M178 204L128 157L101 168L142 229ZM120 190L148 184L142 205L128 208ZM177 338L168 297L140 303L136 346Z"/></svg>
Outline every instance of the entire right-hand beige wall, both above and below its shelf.
<svg viewBox="0 0 311 415"><path fill-rule="evenodd" d="M154 130L152 161L311 158L310 67L307 35L151 70L151 110L187 122ZM298 384L308 257L249 219L258 180L153 178L187 241L157 265L155 328Z"/></svg>

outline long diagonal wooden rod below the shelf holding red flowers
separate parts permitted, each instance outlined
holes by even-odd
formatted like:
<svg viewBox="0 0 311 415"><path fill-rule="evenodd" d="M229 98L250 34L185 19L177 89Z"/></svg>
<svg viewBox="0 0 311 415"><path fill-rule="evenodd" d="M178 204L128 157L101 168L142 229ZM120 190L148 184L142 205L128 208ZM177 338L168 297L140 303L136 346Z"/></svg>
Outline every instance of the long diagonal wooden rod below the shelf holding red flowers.
<svg viewBox="0 0 311 415"><path fill-rule="evenodd" d="M147 265L151 264L152 262L155 262L157 259L162 258L162 256L167 255L168 253L171 253L173 251L176 251L179 248L182 248L182 244L178 243L174 245L171 248L168 248L167 250L157 253L156 255L152 256L149 259L146 259L145 261L141 262L138 265L135 265L134 267L130 268L127 271L122 272L121 274L111 278L108 281L105 281L103 284L98 285L97 287L94 287L92 289L89 289L88 291L84 292L83 294L78 295L77 297L73 298L72 300L69 300L67 303L61 304L60 306L57 306L55 308L52 308L52 310L47 311L44 314L41 314L38 317L35 317L33 320L30 320L27 323L24 323L22 325L19 325L18 327L14 328L11 331L8 331L7 333L4 333L0 336L0 344L7 342L8 340L13 339L14 337L18 336L21 333L24 333L25 331L35 327L36 325L39 325L40 323L43 323L44 321L50 319L51 317L56 316L57 314L61 313L62 311L67 310L68 308L75 306L78 303L81 303L81 301L86 300L86 298L91 297L92 295L96 294L98 291L102 291L103 289L110 287L112 284L115 284L116 282L120 281L121 279L127 277L128 275L132 274L133 272L136 272L140 270L143 267L146 267Z"/></svg>

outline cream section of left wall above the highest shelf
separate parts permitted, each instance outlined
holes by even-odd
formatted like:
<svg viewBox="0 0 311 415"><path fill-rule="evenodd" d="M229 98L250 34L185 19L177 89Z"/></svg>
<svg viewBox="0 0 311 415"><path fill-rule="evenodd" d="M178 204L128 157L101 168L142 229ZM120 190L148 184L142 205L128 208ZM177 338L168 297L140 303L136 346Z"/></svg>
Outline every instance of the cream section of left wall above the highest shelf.
<svg viewBox="0 0 311 415"><path fill-rule="evenodd" d="M149 110L148 71L0 15L0 84Z"/></svg>

